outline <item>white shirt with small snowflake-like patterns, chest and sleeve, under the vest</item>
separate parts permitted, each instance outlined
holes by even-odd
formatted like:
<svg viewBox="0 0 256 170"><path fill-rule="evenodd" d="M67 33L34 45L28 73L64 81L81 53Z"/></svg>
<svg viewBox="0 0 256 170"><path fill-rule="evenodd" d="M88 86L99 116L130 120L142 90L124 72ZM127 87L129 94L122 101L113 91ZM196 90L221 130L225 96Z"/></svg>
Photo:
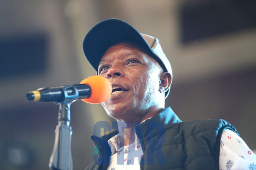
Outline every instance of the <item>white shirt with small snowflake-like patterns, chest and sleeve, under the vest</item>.
<svg viewBox="0 0 256 170"><path fill-rule="evenodd" d="M107 170L140 170L143 152L137 137L133 144L121 148L118 148L116 138L117 135L107 141L112 153ZM256 156L237 134L228 129L223 131L220 139L219 170L256 170Z"/></svg>

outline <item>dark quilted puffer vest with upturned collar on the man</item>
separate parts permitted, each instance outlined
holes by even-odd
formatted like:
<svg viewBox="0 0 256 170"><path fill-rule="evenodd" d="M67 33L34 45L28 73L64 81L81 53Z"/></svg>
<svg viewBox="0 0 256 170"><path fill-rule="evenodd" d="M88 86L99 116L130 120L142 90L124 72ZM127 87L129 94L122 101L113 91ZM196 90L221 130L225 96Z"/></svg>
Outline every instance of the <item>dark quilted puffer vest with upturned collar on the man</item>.
<svg viewBox="0 0 256 170"><path fill-rule="evenodd" d="M237 133L225 120L181 122L168 107L135 128L144 153L141 170L218 170L220 137L224 129ZM107 137L91 136L99 155L85 170L106 170L111 156Z"/></svg>

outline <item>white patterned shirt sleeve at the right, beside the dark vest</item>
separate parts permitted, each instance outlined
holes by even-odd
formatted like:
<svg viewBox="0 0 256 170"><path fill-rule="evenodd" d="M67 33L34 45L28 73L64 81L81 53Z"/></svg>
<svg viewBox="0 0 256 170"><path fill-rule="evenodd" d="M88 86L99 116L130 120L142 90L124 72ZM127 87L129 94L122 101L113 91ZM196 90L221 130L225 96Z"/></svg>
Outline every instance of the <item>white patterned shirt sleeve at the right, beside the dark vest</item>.
<svg viewBox="0 0 256 170"><path fill-rule="evenodd" d="M256 156L233 131L224 130L220 139L219 170L256 170Z"/></svg>

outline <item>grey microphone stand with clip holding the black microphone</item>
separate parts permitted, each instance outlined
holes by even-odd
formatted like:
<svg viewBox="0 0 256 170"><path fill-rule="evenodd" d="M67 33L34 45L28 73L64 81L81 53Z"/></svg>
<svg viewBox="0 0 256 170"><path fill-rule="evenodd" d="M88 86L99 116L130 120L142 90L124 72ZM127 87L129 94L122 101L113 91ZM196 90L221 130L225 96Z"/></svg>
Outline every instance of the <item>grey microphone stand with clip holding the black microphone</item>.
<svg viewBox="0 0 256 170"><path fill-rule="evenodd" d="M64 99L61 102L54 102L59 105L58 125L55 129L55 142L49 160L50 170L72 170L71 156L71 135L70 124L70 105L78 98L78 91L75 86L62 87ZM68 95L67 91L72 90Z"/></svg>

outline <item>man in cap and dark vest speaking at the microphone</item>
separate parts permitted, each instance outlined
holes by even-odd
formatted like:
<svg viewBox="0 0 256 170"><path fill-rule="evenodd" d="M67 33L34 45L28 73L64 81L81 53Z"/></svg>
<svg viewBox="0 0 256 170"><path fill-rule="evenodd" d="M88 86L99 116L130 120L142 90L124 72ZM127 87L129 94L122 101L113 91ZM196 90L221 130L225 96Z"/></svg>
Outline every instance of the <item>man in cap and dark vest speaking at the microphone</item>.
<svg viewBox="0 0 256 170"><path fill-rule="evenodd" d="M91 136L99 149L87 170L256 169L256 158L224 120L181 122L164 100L171 66L158 39L107 19L85 36L86 58L112 85L102 103L118 130Z"/></svg>

